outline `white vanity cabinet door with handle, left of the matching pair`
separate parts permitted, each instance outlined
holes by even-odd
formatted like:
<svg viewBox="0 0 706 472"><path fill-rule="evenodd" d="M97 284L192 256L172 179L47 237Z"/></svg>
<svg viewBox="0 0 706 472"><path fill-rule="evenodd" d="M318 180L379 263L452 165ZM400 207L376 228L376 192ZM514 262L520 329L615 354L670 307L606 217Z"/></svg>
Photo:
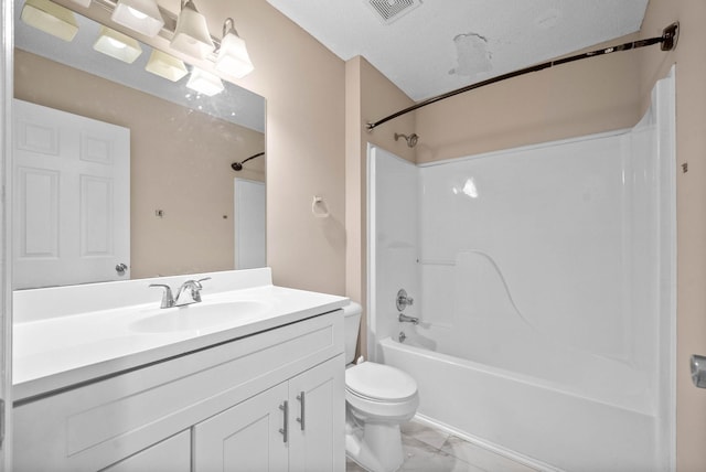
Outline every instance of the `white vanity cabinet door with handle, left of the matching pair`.
<svg viewBox="0 0 706 472"><path fill-rule="evenodd" d="M277 385L194 427L194 471L286 472L287 384Z"/></svg>

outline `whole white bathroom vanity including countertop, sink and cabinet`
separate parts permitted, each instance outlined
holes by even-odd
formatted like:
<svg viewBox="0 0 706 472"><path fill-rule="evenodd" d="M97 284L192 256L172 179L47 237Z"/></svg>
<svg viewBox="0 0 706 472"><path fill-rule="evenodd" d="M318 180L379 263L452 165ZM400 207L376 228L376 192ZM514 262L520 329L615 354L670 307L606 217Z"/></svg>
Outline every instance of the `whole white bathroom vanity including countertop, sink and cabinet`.
<svg viewBox="0 0 706 472"><path fill-rule="evenodd" d="M203 301L174 309L145 288L191 277L15 292L14 470L345 469L347 300L269 269L205 276ZM52 290L104 309L44 315Z"/></svg>

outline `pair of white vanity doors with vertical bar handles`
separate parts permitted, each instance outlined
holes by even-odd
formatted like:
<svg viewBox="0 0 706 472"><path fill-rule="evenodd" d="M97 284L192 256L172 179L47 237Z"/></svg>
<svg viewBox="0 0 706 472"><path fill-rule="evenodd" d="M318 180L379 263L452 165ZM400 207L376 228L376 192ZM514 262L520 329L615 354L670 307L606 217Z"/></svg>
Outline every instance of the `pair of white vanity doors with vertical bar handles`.
<svg viewBox="0 0 706 472"><path fill-rule="evenodd" d="M194 472L334 471L341 468L342 356L193 429Z"/></svg>

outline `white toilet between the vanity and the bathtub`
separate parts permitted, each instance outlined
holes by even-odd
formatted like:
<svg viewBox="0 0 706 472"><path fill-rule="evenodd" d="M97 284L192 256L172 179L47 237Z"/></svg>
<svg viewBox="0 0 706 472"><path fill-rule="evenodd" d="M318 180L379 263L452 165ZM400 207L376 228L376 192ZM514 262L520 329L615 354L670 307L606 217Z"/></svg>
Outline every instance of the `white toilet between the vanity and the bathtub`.
<svg viewBox="0 0 706 472"><path fill-rule="evenodd" d="M345 339L345 453L371 472L393 472L404 461L399 426L419 405L407 373L374 362L353 364L363 309L343 308Z"/></svg>

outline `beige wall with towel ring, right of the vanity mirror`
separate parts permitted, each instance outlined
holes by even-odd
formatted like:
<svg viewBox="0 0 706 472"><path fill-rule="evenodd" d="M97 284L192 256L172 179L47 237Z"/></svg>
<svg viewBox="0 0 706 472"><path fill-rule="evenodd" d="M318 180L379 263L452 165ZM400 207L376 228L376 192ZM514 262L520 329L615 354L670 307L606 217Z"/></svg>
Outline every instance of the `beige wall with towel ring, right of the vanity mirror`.
<svg viewBox="0 0 706 472"><path fill-rule="evenodd" d="M235 19L267 99L267 261L281 286L345 293L345 65L265 0L202 1L212 32ZM312 215L321 196L331 214Z"/></svg>

